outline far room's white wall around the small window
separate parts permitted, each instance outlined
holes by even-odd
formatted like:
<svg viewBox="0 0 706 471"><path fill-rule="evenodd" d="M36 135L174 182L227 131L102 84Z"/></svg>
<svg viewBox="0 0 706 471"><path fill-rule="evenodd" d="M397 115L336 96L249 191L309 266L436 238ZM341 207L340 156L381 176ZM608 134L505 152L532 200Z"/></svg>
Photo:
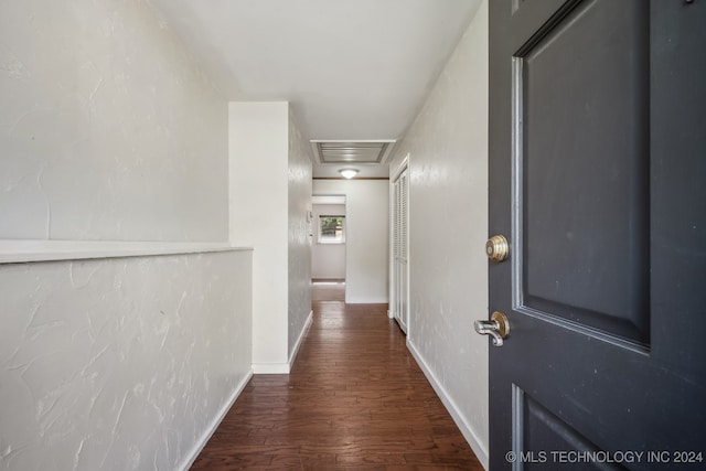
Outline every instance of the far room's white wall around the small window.
<svg viewBox="0 0 706 471"><path fill-rule="evenodd" d="M319 244L319 216L345 215L344 204L313 205L313 248L311 277L314 279L345 278L345 244Z"/></svg>

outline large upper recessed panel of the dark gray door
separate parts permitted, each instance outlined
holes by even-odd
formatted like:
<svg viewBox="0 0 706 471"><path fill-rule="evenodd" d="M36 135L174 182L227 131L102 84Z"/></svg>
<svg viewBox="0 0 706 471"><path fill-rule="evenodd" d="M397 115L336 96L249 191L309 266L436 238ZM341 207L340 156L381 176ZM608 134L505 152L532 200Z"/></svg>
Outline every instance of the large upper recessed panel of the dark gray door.
<svg viewBox="0 0 706 471"><path fill-rule="evenodd" d="M584 2L516 54L518 304L646 345L649 22Z"/></svg>

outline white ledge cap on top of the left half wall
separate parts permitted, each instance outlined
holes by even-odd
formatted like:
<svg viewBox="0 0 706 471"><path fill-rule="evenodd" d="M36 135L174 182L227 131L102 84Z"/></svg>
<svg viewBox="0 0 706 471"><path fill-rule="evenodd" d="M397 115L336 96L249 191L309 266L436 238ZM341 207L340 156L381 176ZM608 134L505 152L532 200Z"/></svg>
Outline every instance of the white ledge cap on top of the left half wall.
<svg viewBox="0 0 706 471"><path fill-rule="evenodd" d="M0 239L0 264L252 250L228 243Z"/></svg>

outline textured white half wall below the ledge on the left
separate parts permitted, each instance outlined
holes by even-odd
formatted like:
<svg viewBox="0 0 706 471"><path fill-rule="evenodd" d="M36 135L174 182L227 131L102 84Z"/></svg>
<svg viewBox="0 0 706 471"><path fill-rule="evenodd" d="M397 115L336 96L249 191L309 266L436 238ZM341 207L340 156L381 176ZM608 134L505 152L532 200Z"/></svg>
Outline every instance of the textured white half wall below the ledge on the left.
<svg viewBox="0 0 706 471"><path fill-rule="evenodd" d="M0 469L176 470L250 374L250 251L0 265Z"/></svg>

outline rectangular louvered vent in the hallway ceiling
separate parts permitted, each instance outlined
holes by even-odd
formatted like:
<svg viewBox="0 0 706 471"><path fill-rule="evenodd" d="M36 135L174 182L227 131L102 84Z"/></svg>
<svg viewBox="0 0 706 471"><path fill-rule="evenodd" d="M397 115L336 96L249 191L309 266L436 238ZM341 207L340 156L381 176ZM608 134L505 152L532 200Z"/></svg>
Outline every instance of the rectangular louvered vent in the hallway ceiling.
<svg viewBox="0 0 706 471"><path fill-rule="evenodd" d="M386 163L395 140L312 140L317 163Z"/></svg>

